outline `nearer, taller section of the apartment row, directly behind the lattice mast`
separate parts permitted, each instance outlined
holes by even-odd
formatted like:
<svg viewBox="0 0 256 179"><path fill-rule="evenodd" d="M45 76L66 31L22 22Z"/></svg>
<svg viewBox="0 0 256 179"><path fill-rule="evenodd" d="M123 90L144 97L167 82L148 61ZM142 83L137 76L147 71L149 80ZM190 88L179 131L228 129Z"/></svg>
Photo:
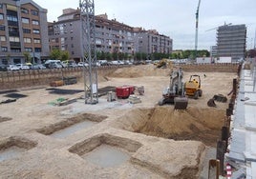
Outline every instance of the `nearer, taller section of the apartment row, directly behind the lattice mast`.
<svg viewBox="0 0 256 179"><path fill-rule="evenodd" d="M66 9L57 22L49 23L50 50L68 50L79 61L82 55L79 10ZM109 20L107 14L96 15L96 51L134 53L133 28Z"/></svg>

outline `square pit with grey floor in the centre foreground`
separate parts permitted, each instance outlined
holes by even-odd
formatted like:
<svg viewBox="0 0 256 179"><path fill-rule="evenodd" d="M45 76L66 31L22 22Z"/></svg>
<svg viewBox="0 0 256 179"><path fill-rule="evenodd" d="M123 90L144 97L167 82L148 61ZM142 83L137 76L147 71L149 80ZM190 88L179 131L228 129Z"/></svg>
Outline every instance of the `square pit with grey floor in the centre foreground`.
<svg viewBox="0 0 256 179"><path fill-rule="evenodd" d="M129 161L141 147L137 141L110 134L100 134L76 144L70 152L101 168L116 168Z"/></svg>

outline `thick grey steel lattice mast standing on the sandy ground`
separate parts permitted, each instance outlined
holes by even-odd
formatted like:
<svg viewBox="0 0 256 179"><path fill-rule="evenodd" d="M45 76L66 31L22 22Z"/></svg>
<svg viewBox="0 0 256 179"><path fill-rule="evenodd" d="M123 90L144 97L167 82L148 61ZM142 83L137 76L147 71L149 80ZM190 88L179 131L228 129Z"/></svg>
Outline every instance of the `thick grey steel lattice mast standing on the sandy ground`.
<svg viewBox="0 0 256 179"><path fill-rule="evenodd" d="M79 0L85 104L98 103L94 0ZM88 67L85 66L88 64Z"/></svg>

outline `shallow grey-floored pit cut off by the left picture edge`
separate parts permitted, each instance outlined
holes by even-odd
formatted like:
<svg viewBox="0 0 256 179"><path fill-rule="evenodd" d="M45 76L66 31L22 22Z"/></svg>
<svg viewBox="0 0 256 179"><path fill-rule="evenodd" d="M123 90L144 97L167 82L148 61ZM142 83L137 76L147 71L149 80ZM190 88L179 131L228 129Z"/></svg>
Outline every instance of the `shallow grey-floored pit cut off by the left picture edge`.
<svg viewBox="0 0 256 179"><path fill-rule="evenodd" d="M11 137L0 142L0 162L15 158L37 144L28 139Z"/></svg>

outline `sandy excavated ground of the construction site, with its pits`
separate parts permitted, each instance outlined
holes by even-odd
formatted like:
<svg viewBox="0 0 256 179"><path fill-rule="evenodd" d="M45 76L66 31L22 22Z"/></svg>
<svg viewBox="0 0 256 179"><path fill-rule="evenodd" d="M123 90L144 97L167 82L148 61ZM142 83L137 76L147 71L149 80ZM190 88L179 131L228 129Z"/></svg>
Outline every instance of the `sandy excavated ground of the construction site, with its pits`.
<svg viewBox="0 0 256 179"><path fill-rule="evenodd" d="M3 89L1 178L208 178L228 101L207 103L216 94L230 99L238 67L150 64L101 72L98 90L105 93L97 104L85 104L78 77L73 85ZM185 109L160 106L179 69L184 82L201 76L202 96L188 96ZM135 89L128 98L110 96L126 86Z"/></svg>

